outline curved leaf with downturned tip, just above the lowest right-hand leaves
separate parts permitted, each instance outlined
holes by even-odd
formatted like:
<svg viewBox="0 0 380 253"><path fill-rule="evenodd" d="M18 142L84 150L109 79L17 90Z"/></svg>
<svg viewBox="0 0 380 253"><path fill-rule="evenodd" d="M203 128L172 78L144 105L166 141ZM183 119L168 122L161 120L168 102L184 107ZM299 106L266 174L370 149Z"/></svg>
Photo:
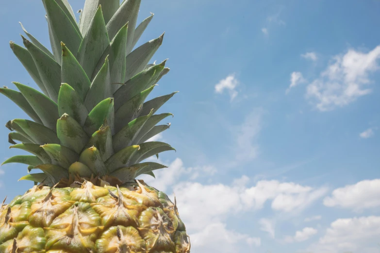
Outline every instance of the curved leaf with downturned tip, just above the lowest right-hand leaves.
<svg viewBox="0 0 380 253"><path fill-rule="evenodd" d="M131 164L139 163L140 161L159 154L164 151L175 150L172 146L165 142L145 142L140 144L140 150L134 154L131 159ZM127 166L131 164L126 164Z"/></svg>

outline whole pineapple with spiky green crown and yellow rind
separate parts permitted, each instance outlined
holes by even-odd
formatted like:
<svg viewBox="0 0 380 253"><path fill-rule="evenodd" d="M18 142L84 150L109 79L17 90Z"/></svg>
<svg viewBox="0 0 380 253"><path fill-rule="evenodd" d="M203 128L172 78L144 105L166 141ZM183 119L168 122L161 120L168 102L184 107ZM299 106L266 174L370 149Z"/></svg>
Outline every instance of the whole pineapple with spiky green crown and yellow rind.
<svg viewBox="0 0 380 253"><path fill-rule="evenodd" d="M67 0L43 0L52 52L22 25L25 47L10 43L41 91L0 89L33 120L6 124L32 155L3 164L28 165L20 180L34 182L0 206L0 253L190 252L175 199L135 179L174 150L147 142L169 128L155 112L175 93L145 102L169 69L148 64L164 34L132 50L153 17L135 28L140 1L86 0L77 23Z"/></svg>

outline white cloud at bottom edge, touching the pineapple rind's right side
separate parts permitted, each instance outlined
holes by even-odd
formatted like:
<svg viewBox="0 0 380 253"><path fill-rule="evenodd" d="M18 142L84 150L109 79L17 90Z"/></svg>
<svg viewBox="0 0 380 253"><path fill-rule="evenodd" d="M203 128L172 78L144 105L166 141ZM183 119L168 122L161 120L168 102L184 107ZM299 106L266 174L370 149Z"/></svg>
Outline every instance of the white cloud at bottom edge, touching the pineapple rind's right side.
<svg viewBox="0 0 380 253"><path fill-rule="evenodd" d="M190 238L194 252L235 253L243 243L256 247L261 245L260 238L227 230L226 224L220 222L209 224L202 231L190 234Z"/></svg>

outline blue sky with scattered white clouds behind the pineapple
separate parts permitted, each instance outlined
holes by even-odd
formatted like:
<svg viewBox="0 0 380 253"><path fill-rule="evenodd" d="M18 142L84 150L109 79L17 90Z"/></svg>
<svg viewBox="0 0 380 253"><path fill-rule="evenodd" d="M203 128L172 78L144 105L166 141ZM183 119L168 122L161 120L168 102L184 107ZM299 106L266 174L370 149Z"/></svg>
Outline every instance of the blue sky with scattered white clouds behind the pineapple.
<svg viewBox="0 0 380 253"><path fill-rule="evenodd" d="M378 253L380 1L143 0L149 12L139 44L165 32L152 61L171 69L153 95L180 93L158 137L177 152L144 179L175 192L192 252ZM36 87L9 48L19 21L49 45L40 1L2 3L2 85ZM3 125L26 117L0 107ZM19 154L7 134L4 160ZM32 187L26 172L0 168L0 199Z"/></svg>

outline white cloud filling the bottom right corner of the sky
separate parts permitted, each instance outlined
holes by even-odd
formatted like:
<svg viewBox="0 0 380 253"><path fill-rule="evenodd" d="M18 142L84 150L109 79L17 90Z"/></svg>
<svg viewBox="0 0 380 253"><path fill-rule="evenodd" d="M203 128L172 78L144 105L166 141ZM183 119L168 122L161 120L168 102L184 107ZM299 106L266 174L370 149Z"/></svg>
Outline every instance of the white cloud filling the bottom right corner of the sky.
<svg viewBox="0 0 380 253"><path fill-rule="evenodd" d="M368 216L338 219L330 224L326 234L310 245L313 253L378 253L380 217Z"/></svg>

